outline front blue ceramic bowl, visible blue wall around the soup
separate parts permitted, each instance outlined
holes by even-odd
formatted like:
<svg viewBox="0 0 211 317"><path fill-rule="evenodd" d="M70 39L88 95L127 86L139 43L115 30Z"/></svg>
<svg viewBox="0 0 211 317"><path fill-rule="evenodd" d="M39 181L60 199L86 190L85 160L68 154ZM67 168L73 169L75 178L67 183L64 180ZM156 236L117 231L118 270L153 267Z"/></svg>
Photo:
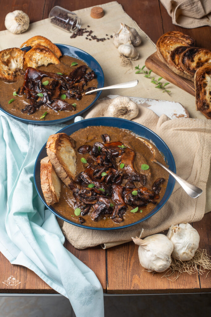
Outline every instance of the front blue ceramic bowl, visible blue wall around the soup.
<svg viewBox="0 0 211 317"><path fill-rule="evenodd" d="M102 118L91 118L79 121L77 123L71 124L70 126L66 126L62 130L58 131L58 133L63 132L68 135L71 135L73 132L78 131L79 129L85 128L87 126L109 126L109 127L118 127L118 128L125 128L128 129L137 135L146 138L150 141L152 141L155 146L158 148L158 150L164 155L164 159L166 163L169 165L169 169L176 173L176 165L174 162L173 155L171 154L170 149L165 144L165 142L152 130L146 128L145 126L140 125L139 123L125 120L125 119L119 119L119 118L110 118L110 117L102 117ZM109 132L108 132L109 133ZM133 226L134 224L140 223L150 217L152 217L158 210L160 210L164 204L167 202L169 197L171 196L171 193L174 188L175 179L169 175L168 184L166 187L166 191L164 193L164 197L161 199L159 204L156 205L156 207L146 215L146 217L141 218L139 221L127 224L125 226L121 227L112 227L112 228L96 228L96 227L88 227L86 225L75 223L69 219L66 219L65 217L61 216L58 211L56 211L52 206L48 206L46 204L45 198L42 193L41 185L40 185L40 160L47 156L46 153L46 144L42 147L40 153L38 154L38 157L35 162L34 166L34 183L36 190L42 200L42 202L46 205L46 207L51 210L57 217L61 218L62 220L69 222L71 224L74 224L75 226L86 228L86 229L94 229L94 230L114 230L114 229L122 229L126 227Z"/></svg>

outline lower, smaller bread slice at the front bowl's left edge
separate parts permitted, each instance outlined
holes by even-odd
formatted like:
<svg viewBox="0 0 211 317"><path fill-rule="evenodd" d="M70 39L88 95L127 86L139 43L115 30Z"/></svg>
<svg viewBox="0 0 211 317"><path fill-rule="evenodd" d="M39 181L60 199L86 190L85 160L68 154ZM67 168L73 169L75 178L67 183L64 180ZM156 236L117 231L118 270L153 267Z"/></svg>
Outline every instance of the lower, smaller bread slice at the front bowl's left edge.
<svg viewBox="0 0 211 317"><path fill-rule="evenodd" d="M48 205L58 203L61 194L61 181L48 157L40 161L40 181L46 203Z"/></svg>

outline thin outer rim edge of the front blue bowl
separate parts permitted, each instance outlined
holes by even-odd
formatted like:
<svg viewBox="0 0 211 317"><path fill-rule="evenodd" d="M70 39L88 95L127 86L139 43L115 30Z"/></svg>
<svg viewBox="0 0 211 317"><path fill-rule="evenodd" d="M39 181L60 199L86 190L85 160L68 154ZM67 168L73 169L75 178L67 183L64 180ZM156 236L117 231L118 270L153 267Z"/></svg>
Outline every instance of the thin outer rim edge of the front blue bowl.
<svg viewBox="0 0 211 317"><path fill-rule="evenodd" d="M137 125L137 126L140 126L140 127L143 128L143 129L146 129L148 132L152 133L153 136L155 136L156 138L158 138L159 141L161 141L161 143L163 143L163 145L166 147L167 151L169 151L169 154L170 154L170 157L171 157L171 160L172 160L171 171L173 171L174 173L176 173L176 164L175 164L175 161L174 161L174 157L173 157L173 155L172 155L172 153L171 153L169 147L167 146L167 144L163 141L163 139L161 139L161 138L159 137L159 135L156 134L155 132L153 132L151 129L147 128L146 126L141 125L140 123L134 122L134 121L130 121L130 120L126 120L126 119L121 119L121 118L113 118L113 117L89 118L89 119L84 119L84 120L82 120L82 121L78 121L78 122L75 122L75 123L73 123L73 124L71 124L71 125L68 125L68 126L62 128L61 130L59 130L58 132L56 132L55 134L63 132L63 130L68 129L69 126L79 125L81 122L84 122L84 121L86 121L86 122L88 121L88 122L89 122L89 121L92 121L93 119L95 119L95 120L96 120L96 119L100 119L100 120L101 120L101 119L103 119L103 120L106 120L106 119L107 119L107 120L111 120L111 121L117 119L117 120L120 121L120 122L122 122L122 121L123 121L123 122L124 122L124 121L125 121L125 122L128 122L128 121L129 121L129 122L133 122L134 125ZM110 123L110 122L109 122L109 123ZM101 124L99 124L99 125L103 125L103 124L101 123ZM89 126L91 126L91 125L89 125ZM111 127L112 127L112 125L111 125ZM81 129L81 128L80 128L80 129ZM127 128L126 128L126 129L127 129ZM79 130L79 129L78 129L78 130ZM78 131L78 130L75 130L75 131ZM128 129L128 130L129 130L129 129ZM131 130L130 130L130 131L131 131ZM169 199L169 197L171 196L171 193L172 193L172 191L173 191L173 189L174 189L175 179L172 178L171 175L169 175L169 179L171 178L172 185L171 185L171 189L170 189L170 191L169 191L169 193L168 193L166 199L164 200L164 202L163 202L160 206L159 206L159 204L160 204L160 202L159 202L158 205L156 206L156 207L159 206L159 208L158 208L157 210L155 210L155 211L152 213L152 211L153 211L153 209L152 209L149 214L147 214L145 217L141 218L140 220L138 220L138 221L136 221L136 222L134 222L134 223L129 223L129 224L125 225L125 226L112 227L112 228L101 228L101 227L98 227L98 228L97 228L97 227L84 226L83 224L75 223L75 222L71 221L70 219L67 219L67 218L63 217L62 215L59 214L59 212L54 211L52 207L50 207L50 206L47 205L47 203L44 201L44 199L43 199L43 198L41 197L41 195L40 195L40 192L39 192L39 190L38 190L38 188L37 188L37 183L36 183L36 166L37 166L37 164L38 164L40 154L41 154L43 148L45 148L45 147L46 147L46 143L44 144L44 146L42 146L42 148L41 148L41 150L40 150L40 152L39 152L39 154L38 154L38 156L37 156L37 158L36 158L35 164L34 164L34 184L35 184L35 188L36 188L37 193L38 193L40 199L42 200L42 202L45 204L45 206L46 206L49 210L51 210L51 212L53 212L53 214L54 214L55 216L57 216L58 218L64 220L65 222L71 223L71 224L73 224L73 225L75 225L75 226L77 226L77 227L81 227L81 228L85 228L85 229L91 229L91 230L104 230L104 231L107 231L107 230L118 230L118 229L123 229L123 228L131 227L131 226L136 225L136 224L138 224L138 223L141 223L141 222L145 221L146 219L148 219L148 218L152 217L153 215L155 215L155 214L164 206L164 204L168 201L168 199ZM168 180L168 182L169 182L169 180Z"/></svg>

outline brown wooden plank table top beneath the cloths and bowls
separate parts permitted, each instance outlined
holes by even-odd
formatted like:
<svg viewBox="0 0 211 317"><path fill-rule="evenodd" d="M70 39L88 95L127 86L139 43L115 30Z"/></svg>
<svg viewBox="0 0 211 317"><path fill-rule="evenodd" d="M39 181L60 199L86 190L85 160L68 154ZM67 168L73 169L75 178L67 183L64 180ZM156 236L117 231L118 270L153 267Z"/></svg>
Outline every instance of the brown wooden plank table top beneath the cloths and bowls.
<svg viewBox="0 0 211 317"><path fill-rule="evenodd" d="M30 18L30 22L39 21L48 17L51 8L60 5L68 10L78 10L94 5L106 3L103 0L81 0L81 1L49 1L49 0L7 0L1 3L0 30L4 30L4 19L7 13L14 10L23 10ZM199 47L209 48L211 28L201 27L196 29L183 29L171 22L164 6L159 0L119 0L126 13L135 20L140 28L156 42L165 32L170 30L182 31L196 40ZM211 254L209 241L211 240L211 213L192 224L198 231L201 239L199 247L207 249ZM183 273L177 281L169 281L162 278L162 273L152 276L143 270L138 260L138 246L133 242L125 243L107 250L100 246L77 250L67 241L65 247L91 268L105 293L108 294L165 294L165 293L201 293L210 292L211 274L206 278L204 275L188 275ZM55 294L56 292L42 281L34 272L20 265L11 265L0 253L0 293L37 293ZM21 281L17 286L7 286L1 281L10 275Z"/></svg>

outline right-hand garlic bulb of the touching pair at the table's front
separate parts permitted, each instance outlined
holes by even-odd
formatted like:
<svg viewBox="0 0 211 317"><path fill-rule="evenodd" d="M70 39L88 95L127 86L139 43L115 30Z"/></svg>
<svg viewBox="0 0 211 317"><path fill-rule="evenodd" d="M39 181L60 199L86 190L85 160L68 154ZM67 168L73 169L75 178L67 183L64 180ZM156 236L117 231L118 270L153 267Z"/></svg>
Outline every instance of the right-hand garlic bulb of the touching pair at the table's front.
<svg viewBox="0 0 211 317"><path fill-rule="evenodd" d="M200 236L189 223L180 223L169 228L167 237L174 245L173 258L181 261L192 259L199 247Z"/></svg>

